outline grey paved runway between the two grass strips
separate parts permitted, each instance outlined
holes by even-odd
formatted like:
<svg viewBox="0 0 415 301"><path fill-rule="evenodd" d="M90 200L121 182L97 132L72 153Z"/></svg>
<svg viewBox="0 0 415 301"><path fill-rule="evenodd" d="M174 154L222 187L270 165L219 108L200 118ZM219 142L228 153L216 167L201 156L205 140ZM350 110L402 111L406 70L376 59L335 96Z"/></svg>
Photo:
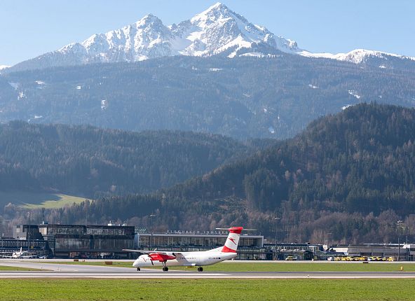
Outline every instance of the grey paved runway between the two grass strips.
<svg viewBox="0 0 415 301"><path fill-rule="evenodd" d="M0 271L0 278L60 279L382 279L415 278L415 272L161 272L160 269L95 265L65 265L53 262L1 260L0 265L43 269L42 271Z"/></svg>

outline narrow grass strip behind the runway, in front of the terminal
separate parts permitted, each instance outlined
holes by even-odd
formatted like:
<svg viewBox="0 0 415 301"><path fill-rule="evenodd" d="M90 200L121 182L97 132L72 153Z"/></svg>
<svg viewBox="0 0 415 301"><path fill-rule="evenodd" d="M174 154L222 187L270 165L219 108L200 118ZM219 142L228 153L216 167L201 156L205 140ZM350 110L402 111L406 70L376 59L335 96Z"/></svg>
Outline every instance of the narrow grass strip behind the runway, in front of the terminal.
<svg viewBox="0 0 415 301"><path fill-rule="evenodd" d="M111 261L111 260L108 260ZM57 263L57 262L55 262ZM69 265L104 265L102 262L59 262ZM132 267L131 262L113 262L114 267ZM205 272L415 272L414 263L362 262L220 262L203 267ZM155 267L161 269L161 267ZM196 271L196 267L170 267L170 270Z"/></svg>

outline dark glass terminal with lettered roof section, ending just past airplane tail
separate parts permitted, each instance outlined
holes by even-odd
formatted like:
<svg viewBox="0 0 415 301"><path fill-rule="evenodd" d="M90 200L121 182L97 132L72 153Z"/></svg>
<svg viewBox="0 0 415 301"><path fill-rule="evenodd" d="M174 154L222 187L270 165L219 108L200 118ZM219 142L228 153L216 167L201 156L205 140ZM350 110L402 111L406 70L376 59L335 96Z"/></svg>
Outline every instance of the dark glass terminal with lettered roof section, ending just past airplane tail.
<svg viewBox="0 0 415 301"><path fill-rule="evenodd" d="M23 249L49 258L136 258L124 248L158 251L206 251L224 246L227 231L168 231L136 233L125 225L18 225L13 239L4 241L2 251ZM273 251L264 247L264 236L241 235L236 259L272 260Z"/></svg>

